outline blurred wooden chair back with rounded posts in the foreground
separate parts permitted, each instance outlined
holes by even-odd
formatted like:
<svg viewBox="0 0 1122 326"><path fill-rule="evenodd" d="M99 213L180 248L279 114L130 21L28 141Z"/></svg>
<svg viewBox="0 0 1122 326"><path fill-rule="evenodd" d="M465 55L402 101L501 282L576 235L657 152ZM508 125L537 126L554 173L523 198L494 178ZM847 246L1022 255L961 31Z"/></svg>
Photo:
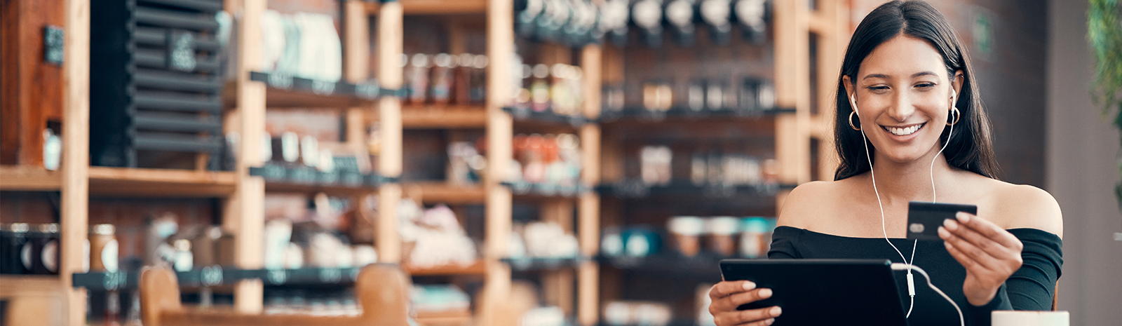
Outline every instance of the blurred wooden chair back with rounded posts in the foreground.
<svg viewBox="0 0 1122 326"><path fill-rule="evenodd" d="M175 272L153 268L140 273L140 314L147 326L406 326L410 286L397 266L370 264L355 280L356 299L362 307L359 316L249 315L183 307Z"/></svg>

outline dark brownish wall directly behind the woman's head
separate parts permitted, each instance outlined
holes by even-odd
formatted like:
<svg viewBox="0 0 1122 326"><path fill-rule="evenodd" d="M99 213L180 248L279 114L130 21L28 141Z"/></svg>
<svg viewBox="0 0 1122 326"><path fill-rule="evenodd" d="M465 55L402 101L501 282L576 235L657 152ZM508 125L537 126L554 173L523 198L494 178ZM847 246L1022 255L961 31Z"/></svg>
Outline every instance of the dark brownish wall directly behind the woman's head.
<svg viewBox="0 0 1122 326"><path fill-rule="evenodd" d="M853 0L852 21L882 0ZM1001 171L1013 184L1045 186L1048 2L1043 0L928 1L942 12L966 45L993 122ZM983 37L988 22L988 38ZM988 39L988 46L985 40Z"/></svg>

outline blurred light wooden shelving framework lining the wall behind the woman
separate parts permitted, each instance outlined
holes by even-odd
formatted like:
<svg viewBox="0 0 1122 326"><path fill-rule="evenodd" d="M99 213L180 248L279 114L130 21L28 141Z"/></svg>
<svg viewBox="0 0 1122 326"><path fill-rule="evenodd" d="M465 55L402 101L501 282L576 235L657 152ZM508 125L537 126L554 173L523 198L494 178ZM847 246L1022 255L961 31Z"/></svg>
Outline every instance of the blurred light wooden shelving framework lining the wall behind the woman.
<svg viewBox="0 0 1122 326"><path fill-rule="evenodd" d="M81 243L88 236L89 198L105 197L218 197L222 198L222 226L236 236L236 268L259 270L263 267L261 252L264 225L264 197L267 192L328 192L346 196L364 196L377 193L378 225L376 248L379 261L402 262L402 243L397 235L397 204L403 196L420 196L422 203L449 203L484 205L485 239L479 249L481 258L468 267L413 268L405 269L414 276L481 276L484 301L475 302L475 311L468 316L431 316L433 320L456 318L458 323L496 325L502 316L497 309L505 304L511 291L512 268L503 261L507 257L507 236L512 230L514 203L531 203L542 209L543 220L567 225L579 240L582 257L597 257L600 237L601 195L597 192L581 192L573 196L521 196L502 184L498 178L486 178L475 186L450 186L443 181L396 184L386 183L376 187L340 187L316 185L286 185L266 183L252 176L249 169L263 166L259 159L261 137L266 136L266 108L312 108L342 110L347 117L347 142L360 147L364 124L377 123L381 132L378 156L378 174L384 177L401 176L403 165L403 129L482 129L488 148L487 176L500 176L507 171L513 156L512 142L515 131L558 128L574 132L581 140L583 153L581 184L600 185L601 178L618 180L615 165L619 153L617 148L601 142L601 128L616 128L645 123L631 118L607 122L600 119L600 83L603 80L622 80L616 71L620 52L613 52L590 45L579 52L578 58L565 63L580 62L583 68L582 123L567 121L535 122L512 117L506 99L508 65L488 66L487 103L475 106L407 106L403 108L395 96L370 97L365 92L316 93L302 87L276 87L263 80L261 12L266 0L226 0L226 10L239 18L237 25L238 44L236 80L226 86L224 105L228 108L224 123L228 132L240 134L239 145L233 149L238 160L232 171L158 170L90 167L89 142L90 108L90 0L65 0L66 27L64 38L64 123L63 165L57 171L40 167L0 166L0 190L61 192L62 193L62 267L58 276L47 277L0 277L0 297L17 298L19 305L36 307L37 313L54 311L62 318L62 325L83 325L85 322L85 290L73 287L73 274L81 271L85 254ZM775 137L775 157L780 161L780 183L797 185L813 177L811 170L811 139L819 140L820 178L827 178L833 167L828 159L830 139L830 101L818 101L825 114L811 114L811 96L829 99L833 91L834 73L840 65L840 54L845 48L848 29L848 8L844 1L817 1L816 11L807 8L806 1L772 1L775 41L775 90L776 106L781 111L764 111L761 115L735 117L744 120L745 128L760 134ZM398 57L403 53L405 16L482 17L486 20L487 55L491 63L512 60L515 43L514 9L509 0L401 0L379 3L377 1L346 0L342 2L342 36L344 44L344 81L335 84L362 85L368 80L371 46L369 34L377 34L377 80L380 90L398 90L402 86L402 67ZM375 30L370 30L371 16L377 17ZM819 91L810 94L809 40L817 37L816 71ZM571 54L571 52L570 52ZM610 76L609 76L610 75ZM255 78L254 76L257 76ZM617 81L613 80L613 81ZM265 81L265 82L263 82ZM342 90L340 89L340 90ZM721 120L726 117L705 118ZM705 120L701 119L701 120ZM603 125L600 123L604 123ZM677 122L666 122L677 123ZM690 124L706 124L707 121L688 121ZM558 124L561 124L560 127ZM552 127L551 127L552 125ZM656 132L662 127L651 127ZM552 129L550 129L552 130ZM603 147L603 149L601 149ZM601 159L603 157L603 159ZM601 165L604 168L601 169ZM776 196L782 202L783 192ZM573 221L576 216L576 223ZM595 259L574 261L574 268L563 268L543 273L543 283L553 285L545 289L544 297L560 298L559 306L569 311L578 324L596 325L600 311L600 263ZM234 309L240 313L260 313L265 282L260 279L237 280L232 285ZM569 290L560 290L568 288ZM42 298L48 298L43 300ZM568 298L567 302L565 298ZM9 306L12 307L12 306ZM36 310L38 309L38 310ZM421 316L419 316L421 317ZM425 318L422 318L425 319ZM447 322L447 320L445 320Z"/></svg>

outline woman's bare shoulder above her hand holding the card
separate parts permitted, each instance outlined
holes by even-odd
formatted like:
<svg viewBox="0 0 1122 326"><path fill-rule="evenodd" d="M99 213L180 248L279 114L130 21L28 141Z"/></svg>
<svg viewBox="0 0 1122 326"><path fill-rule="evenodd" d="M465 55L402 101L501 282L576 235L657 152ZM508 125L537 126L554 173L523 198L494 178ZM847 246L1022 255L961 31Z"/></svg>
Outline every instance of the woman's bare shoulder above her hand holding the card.
<svg viewBox="0 0 1122 326"><path fill-rule="evenodd" d="M991 220L1004 229L1037 229L1064 236L1064 214L1056 198L1041 188L991 179Z"/></svg>

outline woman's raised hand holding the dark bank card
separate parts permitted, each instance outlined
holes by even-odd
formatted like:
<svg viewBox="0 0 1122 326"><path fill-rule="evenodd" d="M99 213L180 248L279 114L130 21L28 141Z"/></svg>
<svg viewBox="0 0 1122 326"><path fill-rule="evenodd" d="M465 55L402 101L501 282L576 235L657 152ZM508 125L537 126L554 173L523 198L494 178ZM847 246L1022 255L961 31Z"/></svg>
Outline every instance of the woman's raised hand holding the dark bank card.
<svg viewBox="0 0 1122 326"><path fill-rule="evenodd" d="M974 306L993 300L1001 285L1021 268L1024 244L1008 231L964 212L939 227L947 252L966 268L963 294Z"/></svg>

